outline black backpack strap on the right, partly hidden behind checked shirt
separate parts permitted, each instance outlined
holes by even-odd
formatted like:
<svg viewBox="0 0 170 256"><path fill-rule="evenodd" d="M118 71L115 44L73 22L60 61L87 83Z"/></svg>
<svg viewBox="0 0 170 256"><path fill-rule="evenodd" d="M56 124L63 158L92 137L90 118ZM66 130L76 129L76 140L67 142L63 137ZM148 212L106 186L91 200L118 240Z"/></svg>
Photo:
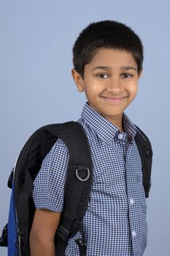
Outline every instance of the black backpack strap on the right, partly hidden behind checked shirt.
<svg viewBox="0 0 170 256"><path fill-rule="evenodd" d="M136 129L135 141L142 161L143 187L147 198L151 187L152 146L147 135L139 127L136 126Z"/></svg>

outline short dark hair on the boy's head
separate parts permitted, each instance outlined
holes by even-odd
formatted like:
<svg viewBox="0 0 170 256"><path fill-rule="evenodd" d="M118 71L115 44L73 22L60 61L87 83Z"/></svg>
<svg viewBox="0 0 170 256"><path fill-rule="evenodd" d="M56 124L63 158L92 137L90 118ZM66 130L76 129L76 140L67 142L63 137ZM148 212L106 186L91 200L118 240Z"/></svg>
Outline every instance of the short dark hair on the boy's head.
<svg viewBox="0 0 170 256"><path fill-rule="evenodd" d="M139 37L128 26L115 20L90 23L80 32L73 47L74 69L84 79L85 64L92 61L99 48L114 48L130 52L142 70L143 46Z"/></svg>

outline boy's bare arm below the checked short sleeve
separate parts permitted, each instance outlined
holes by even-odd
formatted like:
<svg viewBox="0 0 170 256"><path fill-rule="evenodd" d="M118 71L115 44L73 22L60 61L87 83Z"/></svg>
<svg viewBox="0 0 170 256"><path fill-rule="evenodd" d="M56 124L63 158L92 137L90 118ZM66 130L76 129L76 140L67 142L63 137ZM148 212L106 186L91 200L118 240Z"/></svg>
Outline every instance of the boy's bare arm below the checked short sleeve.
<svg viewBox="0 0 170 256"><path fill-rule="evenodd" d="M36 209L30 233L31 256L55 256L54 237L60 212Z"/></svg>

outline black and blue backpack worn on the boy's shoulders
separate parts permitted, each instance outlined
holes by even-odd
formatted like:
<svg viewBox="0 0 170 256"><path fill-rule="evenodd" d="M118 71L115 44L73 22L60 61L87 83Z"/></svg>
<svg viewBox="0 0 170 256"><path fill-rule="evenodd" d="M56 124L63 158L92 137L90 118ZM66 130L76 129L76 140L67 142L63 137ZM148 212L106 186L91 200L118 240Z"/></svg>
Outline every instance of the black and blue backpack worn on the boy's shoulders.
<svg viewBox="0 0 170 256"><path fill-rule="evenodd" d="M142 160L142 175L145 197L149 197L152 166L150 140L136 127L136 145ZM34 218L33 182L40 170L42 160L60 138L69 149L69 165L64 188L64 205L61 222L55 234L56 255L63 256L67 241L80 230L76 240L80 255L85 256L85 236L82 217L88 206L93 177L88 138L82 125L70 121L50 124L36 130L23 146L15 167L9 176L8 187L12 189L8 223L0 238L1 246L8 246L9 256L30 256L29 234Z"/></svg>

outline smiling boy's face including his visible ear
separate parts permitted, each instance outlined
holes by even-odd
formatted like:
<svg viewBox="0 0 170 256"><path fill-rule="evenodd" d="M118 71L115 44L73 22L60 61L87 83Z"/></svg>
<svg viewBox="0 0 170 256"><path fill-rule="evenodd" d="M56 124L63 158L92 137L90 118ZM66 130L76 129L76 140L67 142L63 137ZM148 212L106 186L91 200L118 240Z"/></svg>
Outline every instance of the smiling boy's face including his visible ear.
<svg viewBox="0 0 170 256"><path fill-rule="evenodd" d="M133 101L141 74L131 53L100 48L85 65L84 79L75 69L72 75L77 89L85 91L90 107L114 123Z"/></svg>

